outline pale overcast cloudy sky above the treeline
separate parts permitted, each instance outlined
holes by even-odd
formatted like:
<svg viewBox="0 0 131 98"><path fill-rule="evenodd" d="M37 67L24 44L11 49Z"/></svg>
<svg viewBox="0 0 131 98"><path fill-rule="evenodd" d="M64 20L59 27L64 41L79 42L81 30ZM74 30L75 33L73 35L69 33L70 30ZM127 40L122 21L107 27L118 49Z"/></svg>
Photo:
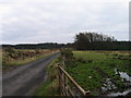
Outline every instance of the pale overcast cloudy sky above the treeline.
<svg viewBox="0 0 131 98"><path fill-rule="evenodd" d="M0 0L0 44L67 44L80 32L129 40L129 1Z"/></svg>

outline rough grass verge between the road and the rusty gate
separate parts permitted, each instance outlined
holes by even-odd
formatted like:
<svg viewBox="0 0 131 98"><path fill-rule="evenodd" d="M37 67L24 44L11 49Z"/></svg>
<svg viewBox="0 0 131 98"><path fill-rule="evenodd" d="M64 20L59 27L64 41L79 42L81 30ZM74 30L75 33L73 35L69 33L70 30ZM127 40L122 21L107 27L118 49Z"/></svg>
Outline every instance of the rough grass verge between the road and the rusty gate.
<svg viewBox="0 0 131 98"><path fill-rule="evenodd" d="M57 77L58 59L47 66L48 78L35 91L34 96L59 96L59 83Z"/></svg>

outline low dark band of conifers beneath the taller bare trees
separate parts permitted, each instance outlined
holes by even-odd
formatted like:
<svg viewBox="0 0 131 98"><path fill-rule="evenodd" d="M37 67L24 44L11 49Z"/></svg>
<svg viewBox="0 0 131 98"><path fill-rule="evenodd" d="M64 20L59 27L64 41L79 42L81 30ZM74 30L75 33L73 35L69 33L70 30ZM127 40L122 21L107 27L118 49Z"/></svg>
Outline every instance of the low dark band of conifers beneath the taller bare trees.
<svg viewBox="0 0 131 98"><path fill-rule="evenodd" d="M131 50L131 41L93 41L83 45L75 45L76 50Z"/></svg>

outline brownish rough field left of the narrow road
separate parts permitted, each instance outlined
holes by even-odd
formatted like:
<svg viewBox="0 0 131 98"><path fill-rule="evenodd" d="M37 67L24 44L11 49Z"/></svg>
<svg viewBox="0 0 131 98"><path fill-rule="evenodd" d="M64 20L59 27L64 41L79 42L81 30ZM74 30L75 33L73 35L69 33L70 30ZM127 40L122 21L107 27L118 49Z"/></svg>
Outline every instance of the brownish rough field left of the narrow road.
<svg viewBox="0 0 131 98"><path fill-rule="evenodd" d="M2 51L2 69L9 70L12 66L26 64L37 59L49 56L56 51L48 49L8 49Z"/></svg>

